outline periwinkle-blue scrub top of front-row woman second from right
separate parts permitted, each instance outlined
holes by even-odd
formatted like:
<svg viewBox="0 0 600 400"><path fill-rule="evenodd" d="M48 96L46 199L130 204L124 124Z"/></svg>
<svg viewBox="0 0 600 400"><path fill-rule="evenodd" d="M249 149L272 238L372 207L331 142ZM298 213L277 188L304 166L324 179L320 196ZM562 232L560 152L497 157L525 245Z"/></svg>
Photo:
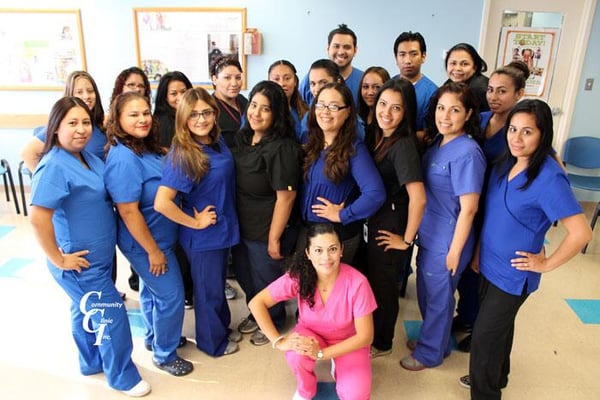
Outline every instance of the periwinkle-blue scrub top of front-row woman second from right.
<svg viewBox="0 0 600 400"><path fill-rule="evenodd" d="M460 196L481 193L486 161L479 145L461 135L440 147L442 135L423 156L427 205L419 227L419 246L447 253L460 213ZM474 244L473 230L464 249Z"/></svg>

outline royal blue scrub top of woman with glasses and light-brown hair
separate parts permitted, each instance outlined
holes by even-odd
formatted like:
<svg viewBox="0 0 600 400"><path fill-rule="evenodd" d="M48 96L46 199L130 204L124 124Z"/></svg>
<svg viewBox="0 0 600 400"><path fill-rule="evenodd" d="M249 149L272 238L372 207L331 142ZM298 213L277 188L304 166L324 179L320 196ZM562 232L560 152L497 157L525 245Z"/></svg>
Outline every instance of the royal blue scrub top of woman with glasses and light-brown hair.
<svg viewBox="0 0 600 400"><path fill-rule="evenodd" d="M173 164L173 154L169 153L163 171L161 185L177 190L182 194L182 209L193 216L208 205L217 212L217 223L205 229L179 227L179 240L182 246L194 251L207 251L229 248L240 241L239 223L235 205L235 164L231 151L223 137L217 145L201 145L210 158L210 170L196 183Z"/></svg>

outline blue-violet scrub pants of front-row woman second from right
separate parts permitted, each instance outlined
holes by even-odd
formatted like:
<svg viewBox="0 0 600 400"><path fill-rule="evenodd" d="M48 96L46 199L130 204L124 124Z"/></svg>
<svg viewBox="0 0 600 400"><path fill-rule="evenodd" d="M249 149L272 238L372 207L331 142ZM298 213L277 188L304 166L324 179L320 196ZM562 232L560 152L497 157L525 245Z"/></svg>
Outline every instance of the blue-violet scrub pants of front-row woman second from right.
<svg viewBox="0 0 600 400"><path fill-rule="evenodd" d="M440 365L452 351L454 291L470 259L471 252L463 251L458 271L452 276L446 269L446 253L420 248L417 254L417 299L423 325L412 355L428 368Z"/></svg>

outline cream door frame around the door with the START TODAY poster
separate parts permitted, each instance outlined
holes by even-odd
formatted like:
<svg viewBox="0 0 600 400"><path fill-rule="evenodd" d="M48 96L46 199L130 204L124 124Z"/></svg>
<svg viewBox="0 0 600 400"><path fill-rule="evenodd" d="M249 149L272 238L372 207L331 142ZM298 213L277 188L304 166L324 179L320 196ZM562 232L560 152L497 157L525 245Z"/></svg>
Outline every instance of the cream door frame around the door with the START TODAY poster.
<svg viewBox="0 0 600 400"><path fill-rule="evenodd" d="M479 33L479 50L480 54L486 53L486 37L488 35L488 26L490 20L491 3L493 1L501 0L484 0L483 1L483 18L481 20L481 30ZM552 104L551 107L560 107L562 110L561 118L559 119L558 126L554 127L554 149L558 154L562 154L562 148L565 141L569 138L569 131L571 129L571 122L573 120L573 114L575 110L575 101L577 100L577 92L581 81L581 71L583 69L583 63L585 61L585 55L590 39L590 33L592 30L592 23L594 22L594 12L596 10L596 4L598 0L584 0L584 9L582 21L579 24L579 30L577 32L577 46L573 50L573 58L571 59L571 65L569 67L569 79L565 88L565 97L562 104ZM523 1L523 9L532 9L534 7L527 7L527 0ZM538 11L538 10L535 10ZM543 11L543 10L539 10ZM563 44L564 45L564 44ZM560 46L560 44L559 44ZM496 54L497 54L496 49ZM495 69L495 59L494 68Z"/></svg>

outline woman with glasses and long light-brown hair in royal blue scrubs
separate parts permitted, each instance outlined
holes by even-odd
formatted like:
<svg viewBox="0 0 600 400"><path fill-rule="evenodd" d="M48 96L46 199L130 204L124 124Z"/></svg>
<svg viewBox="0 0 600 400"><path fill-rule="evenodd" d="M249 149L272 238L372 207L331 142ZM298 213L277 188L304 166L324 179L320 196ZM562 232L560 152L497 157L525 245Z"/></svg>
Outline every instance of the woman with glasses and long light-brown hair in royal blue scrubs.
<svg viewBox="0 0 600 400"><path fill-rule="evenodd" d="M229 248L239 242L235 166L218 118L215 98L206 90L183 95L154 200L158 212L180 225L179 243L194 283L196 346L213 357L235 353L241 340L240 333L229 329L224 292Z"/></svg>

